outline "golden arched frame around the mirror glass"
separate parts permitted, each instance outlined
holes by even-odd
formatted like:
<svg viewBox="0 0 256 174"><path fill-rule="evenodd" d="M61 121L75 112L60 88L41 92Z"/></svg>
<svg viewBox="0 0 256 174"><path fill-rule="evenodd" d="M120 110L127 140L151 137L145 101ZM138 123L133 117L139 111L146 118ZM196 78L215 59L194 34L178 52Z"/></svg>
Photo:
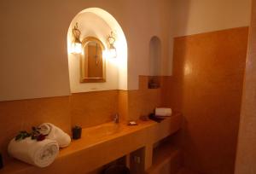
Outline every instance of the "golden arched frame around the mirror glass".
<svg viewBox="0 0 256 174"><path fill-rule="evenodd" d="M102 54L103 51L105 50L104 45L102 44L102 41L98 38L95 37L87 37L84 38L82 41L82 49L84 52L84 47L88 42L96 42L97 44L100 45L102 49ZM80 83L103 83L106 82L106 58L103 58L102 55L102 78L85 78L84 77L84 54L80 55Z"/></svg>

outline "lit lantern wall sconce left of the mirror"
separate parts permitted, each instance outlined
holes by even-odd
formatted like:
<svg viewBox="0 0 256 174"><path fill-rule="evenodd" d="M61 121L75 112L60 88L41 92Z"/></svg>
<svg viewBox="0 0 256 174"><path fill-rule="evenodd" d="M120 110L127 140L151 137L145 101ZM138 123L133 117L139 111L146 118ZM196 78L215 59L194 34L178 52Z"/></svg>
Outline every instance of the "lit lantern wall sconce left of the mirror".
<svg viewBox="0 0 256 174"><path fill-rule="evenodd" d="M80 41L80 35L81 32L79 31L79 24L76 23L75 26L73 26L73 43L72 43L72 53L74 54L81 54L82 53L82 43Z"/></svg>

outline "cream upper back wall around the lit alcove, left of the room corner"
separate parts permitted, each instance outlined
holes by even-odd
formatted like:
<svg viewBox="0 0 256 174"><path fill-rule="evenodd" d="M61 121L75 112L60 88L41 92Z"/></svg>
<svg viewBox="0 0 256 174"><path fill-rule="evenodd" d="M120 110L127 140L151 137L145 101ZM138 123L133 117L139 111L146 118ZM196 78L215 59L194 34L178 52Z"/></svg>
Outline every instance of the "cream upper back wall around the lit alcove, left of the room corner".
<svg viewBox="0 0 256 174"><path fill-rule="evenodd" d="M105 9L122 26L128 44L128 89L137 89L138 75L148 75L150 38L156 35L167 43L168 2L0 1L0 101L70 95L67 29L76 14L91 7ZM165 59L167 50L166 44Z"/></svg>

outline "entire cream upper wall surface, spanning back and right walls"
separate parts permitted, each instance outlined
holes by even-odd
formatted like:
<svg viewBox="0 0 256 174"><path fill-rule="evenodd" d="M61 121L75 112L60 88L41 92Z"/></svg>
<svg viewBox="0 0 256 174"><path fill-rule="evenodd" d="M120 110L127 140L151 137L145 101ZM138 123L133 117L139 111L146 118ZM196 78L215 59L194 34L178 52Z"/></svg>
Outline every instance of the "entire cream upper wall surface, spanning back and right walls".
<svg viewBox="0 0 256 174"><path fill-rule="evenodd" d="M70 94L67 29L83 9L105 9L123 28L128 45L128 90L135 90L138 75L149 74L150 38L160 38L161 74L171 74L173 36L248 26L250 2L0 1L0 101Z"/></svg>

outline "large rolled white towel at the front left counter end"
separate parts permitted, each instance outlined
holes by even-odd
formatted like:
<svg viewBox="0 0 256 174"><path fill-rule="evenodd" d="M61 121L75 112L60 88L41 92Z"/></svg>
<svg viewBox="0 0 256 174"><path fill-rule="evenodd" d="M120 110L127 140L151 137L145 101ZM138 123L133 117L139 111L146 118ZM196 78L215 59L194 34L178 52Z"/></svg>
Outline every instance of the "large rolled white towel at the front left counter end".
<svg viewBox="0 0 256 174"><path fill-rule="evenodd" d="M53 163L57 154L59 154L59 145L54 140L44 139L38 142L26 137L23 140L15 141L15 138L9 142L9 154L31 165L46 167Z"/></svg>

